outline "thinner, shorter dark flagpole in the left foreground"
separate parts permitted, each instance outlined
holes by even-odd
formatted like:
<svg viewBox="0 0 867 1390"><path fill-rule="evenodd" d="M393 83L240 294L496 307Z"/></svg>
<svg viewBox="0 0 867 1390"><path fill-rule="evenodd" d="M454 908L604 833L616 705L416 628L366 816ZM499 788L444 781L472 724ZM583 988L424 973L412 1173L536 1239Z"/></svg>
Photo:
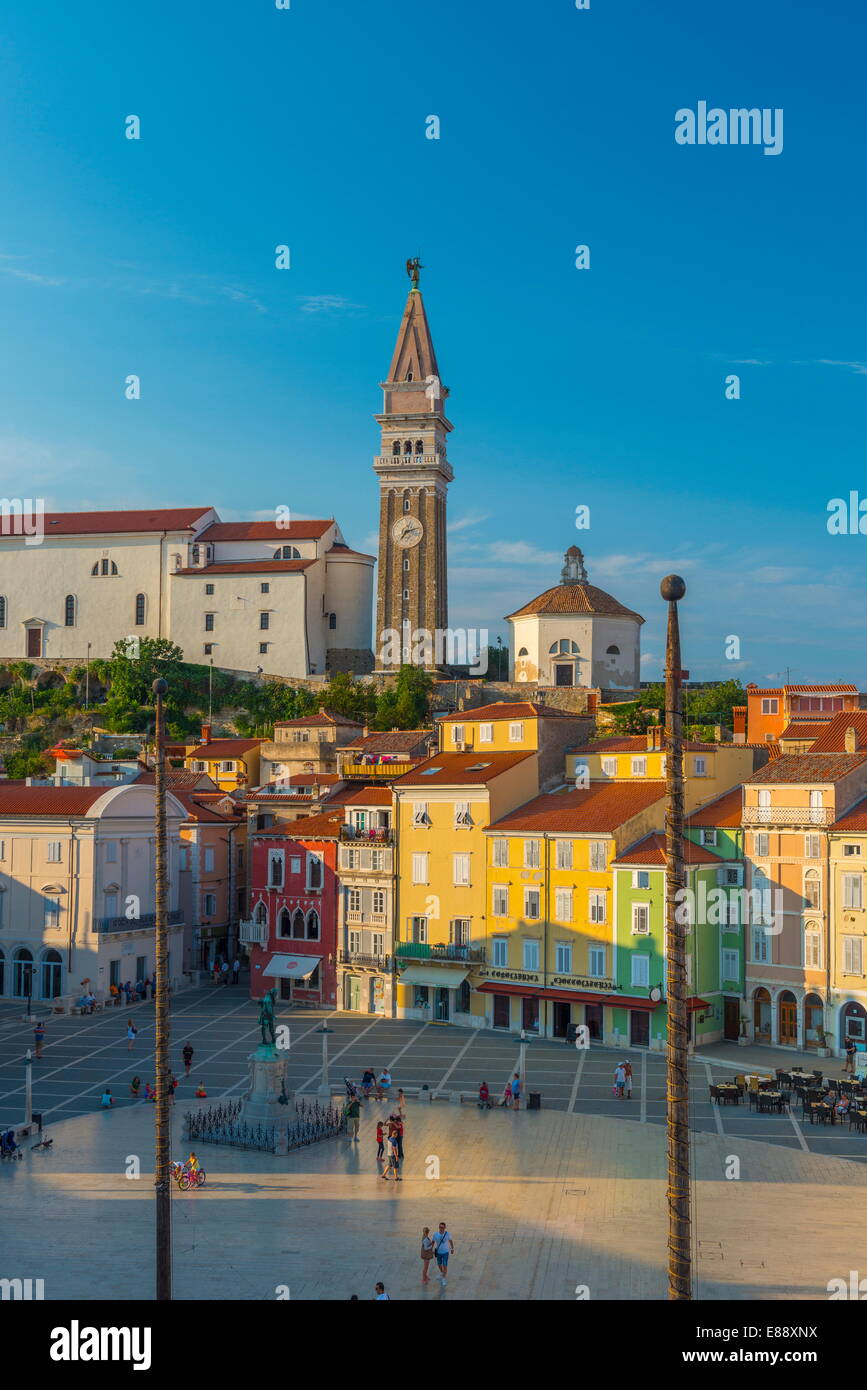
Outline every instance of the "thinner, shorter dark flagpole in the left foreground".
<svg viewBox="0 0 867 1390"><path fill-rule="evenodd" d="M157 947L157 999L156 999L156 1154L154 1190L157 1201L157 1300L171 1300L171 1111L168 1086L170 1072L170 1017L168 1017L168 933L167 899L168 874L165 856L165 712L163 696L168 689L164 680L153 682L156 696L154 724L154 783L156 783L156 947Z"/></svg>

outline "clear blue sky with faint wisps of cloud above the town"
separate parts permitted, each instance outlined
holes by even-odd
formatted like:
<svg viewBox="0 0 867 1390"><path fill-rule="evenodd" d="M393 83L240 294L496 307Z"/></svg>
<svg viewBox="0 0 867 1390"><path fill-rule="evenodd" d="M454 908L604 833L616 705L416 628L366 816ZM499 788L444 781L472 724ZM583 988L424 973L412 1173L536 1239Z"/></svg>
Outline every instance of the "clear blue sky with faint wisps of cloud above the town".
<svg viewBox="0 0 867 1390"><path fill-rule="evenodd" d="M867 687L867 537L825 524L867 498L866 40L852 0L7 7L3 491L285 503L371 548L420 253L453 624L504 632L577 542L645 678L678 570L693 678ZM782 108L782 153L677 145L700 100Z"/></svg>

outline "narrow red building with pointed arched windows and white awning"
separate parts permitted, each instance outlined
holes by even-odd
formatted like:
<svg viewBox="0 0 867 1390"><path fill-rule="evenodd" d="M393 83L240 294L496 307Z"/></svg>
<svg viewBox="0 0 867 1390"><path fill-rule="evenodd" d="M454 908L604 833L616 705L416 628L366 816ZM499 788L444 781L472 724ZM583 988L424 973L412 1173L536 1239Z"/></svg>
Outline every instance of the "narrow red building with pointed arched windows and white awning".
<svg viewBox="0 0 867 1390"><path fill-rule="evenodd" d="M250 949L250 994L336 1008L338 844L342 812L272 826L251 838L250 916L265 944Z"/></svg>

